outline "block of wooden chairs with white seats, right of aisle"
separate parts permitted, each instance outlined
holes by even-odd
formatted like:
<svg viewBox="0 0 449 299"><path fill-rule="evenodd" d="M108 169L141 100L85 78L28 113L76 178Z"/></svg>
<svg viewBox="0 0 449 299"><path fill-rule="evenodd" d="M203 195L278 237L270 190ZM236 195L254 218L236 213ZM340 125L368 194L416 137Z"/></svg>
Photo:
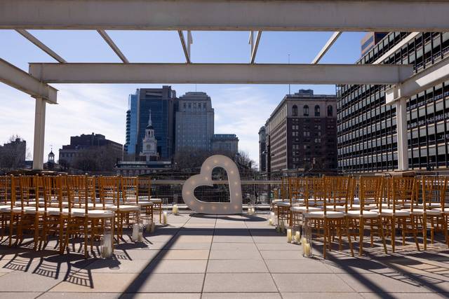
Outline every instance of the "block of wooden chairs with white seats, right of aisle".
<svg viewBox="0 0 449 299"><path fill-rule="evenodd" d="M396 234L401 232L402 244L411 235L417 250L427 249L428 231L431 243L436 232L448 238L449 207L445 202L448 180L440 177L328 176L323 178L286 178L281 184L283 200L274 202L278 221L301 226L310 220L316 236L331 249L335 237L342 248L346 237L351 254L352 241L358 238L359 254L363 253L363 238L369 230L373 237L391 239L391 251L396 250ZM422 246L418 237L422 237Z"/></svg>

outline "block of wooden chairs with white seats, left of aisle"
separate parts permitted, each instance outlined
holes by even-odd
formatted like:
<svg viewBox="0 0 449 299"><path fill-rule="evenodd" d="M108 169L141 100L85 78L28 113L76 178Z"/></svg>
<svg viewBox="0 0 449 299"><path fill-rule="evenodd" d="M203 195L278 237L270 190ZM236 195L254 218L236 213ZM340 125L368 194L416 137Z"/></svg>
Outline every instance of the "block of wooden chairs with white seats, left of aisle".
<svg viewBox="0 0 449 299"><path fill-rule="evenodd" d="M137 223L141 212L153 221L151 181L121 176L0 176L1 238L9 246L22 244L32 233L34 249L45 248L49 235L58 236L60 252L69 239L83 237L88 244L99 239L105 225L119 242L123 228ZM14 243L13 243L14 239Z"/></svg>

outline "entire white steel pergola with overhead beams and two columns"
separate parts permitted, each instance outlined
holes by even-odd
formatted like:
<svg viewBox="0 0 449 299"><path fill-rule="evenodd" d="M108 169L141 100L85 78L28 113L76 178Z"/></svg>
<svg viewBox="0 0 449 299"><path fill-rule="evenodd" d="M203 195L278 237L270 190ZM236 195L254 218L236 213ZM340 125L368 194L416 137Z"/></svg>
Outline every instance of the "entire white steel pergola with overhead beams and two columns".
<svg viewBox="0 0 449 299"><path fill-rule="evenodd" d="M43 168L48 83L382 84L396 105L398 169L408 169L406 99L449 79L449 60L415 74L382 62L419 32L449 31L449 1L417 0L2 0L0 29L15 29L58 63L29 64L29 74L0 59L0 81L36 99L33 168ZM413 16L413 18L410 18ZM123 63L69 63L27 29L96 30ZM185 64L130 63L106 30L175 30ZM196 64L192 31L248 31L248 64ZM256 64L264 31L331 31L311 64ZM411 32L374 64L318 64L342 32ZM187 37L185 36L187 32Z"/></svg>

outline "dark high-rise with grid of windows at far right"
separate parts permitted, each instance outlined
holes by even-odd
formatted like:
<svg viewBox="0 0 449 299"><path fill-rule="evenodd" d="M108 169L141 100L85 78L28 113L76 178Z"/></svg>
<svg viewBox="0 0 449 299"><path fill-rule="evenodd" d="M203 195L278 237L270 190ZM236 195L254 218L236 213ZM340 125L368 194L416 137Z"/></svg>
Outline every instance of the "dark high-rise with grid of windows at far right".
<svg viewBox="0 0 449 299"><path fill-rule="evenodd" d="M403 42L404 40L407 42ZM402 45L403 43L403 45ZM394 50L394 47L397 49ZM386 55L387 52L390 55ZM413 64L415 72L449 56L449 32L391 32L358 64ZM398 168L396 108L385 104L389 85L337 86L338 166L341 172ZM449 166L449 81L407 100L410 169Z"/></svg>

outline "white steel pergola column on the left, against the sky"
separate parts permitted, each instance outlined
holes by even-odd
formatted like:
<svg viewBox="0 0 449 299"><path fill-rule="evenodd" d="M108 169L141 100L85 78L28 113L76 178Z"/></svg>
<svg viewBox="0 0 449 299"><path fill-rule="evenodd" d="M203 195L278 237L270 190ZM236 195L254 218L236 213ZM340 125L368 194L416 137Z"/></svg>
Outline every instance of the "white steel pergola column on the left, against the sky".
<svg viewBox="0 0 449 299"><path fill-rule="evenodd" d="M36 110L34 112L34 148L33 169L43 169L43 141L45 137L45 105L41 97L36 97Z"/></svg>

